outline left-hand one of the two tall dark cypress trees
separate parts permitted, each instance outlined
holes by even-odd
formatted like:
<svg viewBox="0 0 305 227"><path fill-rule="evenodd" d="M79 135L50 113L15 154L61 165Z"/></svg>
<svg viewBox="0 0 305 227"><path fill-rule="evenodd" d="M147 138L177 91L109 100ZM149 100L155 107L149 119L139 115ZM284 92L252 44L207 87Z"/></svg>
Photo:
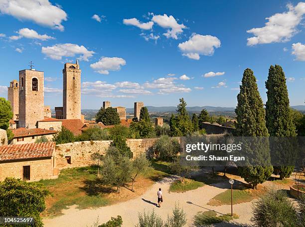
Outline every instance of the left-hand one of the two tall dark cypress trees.
<svg viewBox="0 0 305 227"><path fill-rule="evenodd" d="M268 136L264 104L251 69L244 71L237 102L235 134L237 136ZM248 164L239 168L241 177L251 184L253 188L256 188L259 183L266 181L273 172L269 144L253 150L245 150L245 152L252 153L252 156L256 158L256 163L261 163L261 166ZM255 152L254 155L253 152Z"/></svg>

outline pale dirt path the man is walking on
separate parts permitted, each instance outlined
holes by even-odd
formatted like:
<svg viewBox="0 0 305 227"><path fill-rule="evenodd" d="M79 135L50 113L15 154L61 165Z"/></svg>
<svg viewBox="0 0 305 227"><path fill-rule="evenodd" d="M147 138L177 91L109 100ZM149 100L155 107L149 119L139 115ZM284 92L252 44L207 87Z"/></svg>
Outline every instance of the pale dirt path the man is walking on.
<svg viewBox="0 0 305 227"><path fill-rule="evenodd" d="M144 195L112 206L101 207L98 209L78 210L71 207L63 211L63 216L53 219L44 219L45 227L91 227L97 218L99 223L105 223L111 217L117 215L122 216L124 227L134 227L138 223L138 213L151 212L152 210L163 220L166 220L167 214L171 214L175 203L183 208L187 214L188 225L192 226L193 217L197 212L204 212L207 210L214 210L220 214L227 214L231 211L230 205L222 205L218 207L206 205L208 201L219 193L224 192L229 188L229 183L219 183L215 186L203 186L196 190L185 193L168 193L170 182L172 178L165 178L160 182L155 183L151 189L145 192ZM162 188L164 203L161 208L156 207L156 192L158 188ZM237 223L249 223L251 218L251 202L242 203L233 206L233 212L240 215L240 218L235 220Z"/></svg>

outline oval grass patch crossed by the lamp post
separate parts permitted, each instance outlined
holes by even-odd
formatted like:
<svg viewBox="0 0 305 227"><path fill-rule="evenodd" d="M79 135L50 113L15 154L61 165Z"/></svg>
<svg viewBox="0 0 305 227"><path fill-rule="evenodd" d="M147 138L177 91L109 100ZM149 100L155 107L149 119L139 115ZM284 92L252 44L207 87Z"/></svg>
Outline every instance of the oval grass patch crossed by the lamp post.
<svg viewBox="0 0 305 227"><path fill-rule="evenodd" d="M262 192L259 190L238 190L233 189L233 204L240 204L250 202L255 198L258 198ZM220 206L220 205L230 205L231 204L231 189L226 190L214 198L212 198L208 203L211 206Z"/></svg>

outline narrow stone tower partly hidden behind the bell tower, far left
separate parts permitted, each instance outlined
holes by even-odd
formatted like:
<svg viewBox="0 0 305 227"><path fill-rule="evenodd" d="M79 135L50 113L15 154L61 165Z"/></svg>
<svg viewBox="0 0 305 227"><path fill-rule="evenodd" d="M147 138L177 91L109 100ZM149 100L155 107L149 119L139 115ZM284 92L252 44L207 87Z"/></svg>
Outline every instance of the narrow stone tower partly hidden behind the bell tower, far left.
<svg viewBox="0 0 305 227"><path fill-rule="evenodd" d="M13 120L18 120L19 116L19 83L16 80L10 82L7 88L7 100L10 102Z"/></svg>

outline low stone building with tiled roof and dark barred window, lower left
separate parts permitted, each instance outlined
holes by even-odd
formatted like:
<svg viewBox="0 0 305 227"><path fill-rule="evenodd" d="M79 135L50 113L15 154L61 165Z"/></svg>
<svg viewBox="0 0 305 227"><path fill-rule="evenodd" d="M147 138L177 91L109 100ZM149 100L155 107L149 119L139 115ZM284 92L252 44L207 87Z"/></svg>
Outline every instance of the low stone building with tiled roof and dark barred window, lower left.
<svg viewBox="0 0 305 227"><path fill-rule="evenodd" d="M0 146L0 181L6 177L25 181L57 178L55 143Z"/></svg>

